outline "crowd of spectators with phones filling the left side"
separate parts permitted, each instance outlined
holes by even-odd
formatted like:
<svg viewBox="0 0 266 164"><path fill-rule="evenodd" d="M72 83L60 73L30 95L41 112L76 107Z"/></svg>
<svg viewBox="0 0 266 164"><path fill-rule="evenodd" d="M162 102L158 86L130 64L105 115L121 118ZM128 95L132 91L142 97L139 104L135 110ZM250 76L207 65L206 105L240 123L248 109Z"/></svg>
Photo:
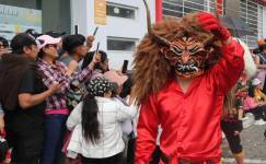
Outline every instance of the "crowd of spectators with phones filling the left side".
<svg viewBox="0 0 266 164"><path fill-rule="evenodd" d="M93 36L63 35L28 30L10 46L0 38L0 130L9 145L1 150L3 163L124 159L122 125L129 121L132 130L137 115L130 74L109 70L105 51L89 51Z"/></svg>

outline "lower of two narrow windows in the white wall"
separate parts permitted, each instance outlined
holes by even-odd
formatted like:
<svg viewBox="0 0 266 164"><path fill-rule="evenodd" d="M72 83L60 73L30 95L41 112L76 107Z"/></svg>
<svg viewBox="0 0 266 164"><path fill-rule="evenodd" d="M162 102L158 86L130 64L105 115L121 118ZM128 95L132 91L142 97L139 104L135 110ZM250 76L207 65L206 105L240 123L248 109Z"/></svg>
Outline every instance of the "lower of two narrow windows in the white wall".
<svg viewBox="0 0 266 164"><path fill-rule="evenodd" d="M135 51L137 39L107 37L107 50Z"/></svg>

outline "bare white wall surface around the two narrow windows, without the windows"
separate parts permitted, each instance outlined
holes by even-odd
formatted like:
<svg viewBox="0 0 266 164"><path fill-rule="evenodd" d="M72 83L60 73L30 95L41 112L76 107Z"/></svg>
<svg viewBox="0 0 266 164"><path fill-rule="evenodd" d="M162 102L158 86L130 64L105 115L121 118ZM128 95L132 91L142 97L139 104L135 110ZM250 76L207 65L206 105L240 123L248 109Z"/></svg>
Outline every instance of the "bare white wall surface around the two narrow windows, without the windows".
<svg viewBox="0 0 266 164"><path fill-rule="evenodd" d="M79 24L79 31L83 35L92 35L94 28L94 0L71 0L72 24ZM107 24L101 25L95 36L92 50L100 42L100 49L107 50L107 36L126 37L140 40L147 33L146 9L142 0L107 0L107 2L137 8L137 19L128 20L107 16ZM148 0L151 9L152 21L155 20L155 1ZM111 68L120 69L124 59L131 63L134 52L130 51L107 51ZM129 65L130 65L129 63Z"/></svg>

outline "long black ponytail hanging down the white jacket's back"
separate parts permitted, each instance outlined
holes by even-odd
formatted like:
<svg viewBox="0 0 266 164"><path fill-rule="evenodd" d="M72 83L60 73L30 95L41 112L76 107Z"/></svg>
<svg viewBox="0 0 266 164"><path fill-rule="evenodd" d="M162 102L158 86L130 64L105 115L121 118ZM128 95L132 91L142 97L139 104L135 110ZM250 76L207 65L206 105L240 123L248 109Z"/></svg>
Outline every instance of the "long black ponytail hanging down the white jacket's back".
<svg viewBox="0 0 266 164"><path fill-rule="evenodd" d="M81 114L82 134L85 141L91 141L93 144L97 143L100 139L97 112L96 99L94 97L86 97L83 101Z"/></svg>

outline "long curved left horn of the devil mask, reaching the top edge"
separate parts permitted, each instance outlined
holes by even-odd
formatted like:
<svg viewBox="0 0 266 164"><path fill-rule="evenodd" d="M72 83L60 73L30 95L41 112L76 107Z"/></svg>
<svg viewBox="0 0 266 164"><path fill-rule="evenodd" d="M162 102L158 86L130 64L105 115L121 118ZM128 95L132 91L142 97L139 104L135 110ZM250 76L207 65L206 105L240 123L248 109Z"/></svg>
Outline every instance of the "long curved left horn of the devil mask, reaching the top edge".
<svg viewBox="0 0 266 164"><path fill-rule="evenodd" d="M152 26L151 26L150 8L149 8L149 5L148 5L146 0L143 0L143 2L144 2L144 7L146 7L146 12L147 12L147 25L148 25L148 33L149 33L149 35L151 35L158 43L162 44L163 46L170 47L171 43L166 38L154 34L154 32L152 30Z"/></svg>

